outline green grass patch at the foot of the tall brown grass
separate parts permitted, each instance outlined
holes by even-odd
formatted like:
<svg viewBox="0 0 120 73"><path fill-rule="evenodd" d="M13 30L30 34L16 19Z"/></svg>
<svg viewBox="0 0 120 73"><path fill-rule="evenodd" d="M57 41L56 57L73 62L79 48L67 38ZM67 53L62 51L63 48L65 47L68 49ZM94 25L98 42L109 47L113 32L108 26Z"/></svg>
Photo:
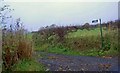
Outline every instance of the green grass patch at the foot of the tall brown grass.
<svg viewBox="0 0 120 73"><path fill-rule="evenodd" d="M33 59L23 59L13 66L13 71L45 71L45 67Z"/></svg>

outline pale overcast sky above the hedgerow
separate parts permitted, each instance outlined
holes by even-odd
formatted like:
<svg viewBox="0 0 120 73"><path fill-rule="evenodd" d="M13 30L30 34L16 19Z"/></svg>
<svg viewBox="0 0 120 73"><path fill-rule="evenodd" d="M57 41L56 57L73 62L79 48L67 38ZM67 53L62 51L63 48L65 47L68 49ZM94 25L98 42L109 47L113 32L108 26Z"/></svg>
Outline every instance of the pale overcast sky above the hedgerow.
<svg viewBox="0 0 120 73"><path fill-rule="evenodd" d="M7 4L15 9L12 12L14 18L20 17L25 28L30 31L51 24L83 25L86 22L91 24L93 19L101 18L102 22L118 19L118 2L22 2L21 0Z"/></svg>

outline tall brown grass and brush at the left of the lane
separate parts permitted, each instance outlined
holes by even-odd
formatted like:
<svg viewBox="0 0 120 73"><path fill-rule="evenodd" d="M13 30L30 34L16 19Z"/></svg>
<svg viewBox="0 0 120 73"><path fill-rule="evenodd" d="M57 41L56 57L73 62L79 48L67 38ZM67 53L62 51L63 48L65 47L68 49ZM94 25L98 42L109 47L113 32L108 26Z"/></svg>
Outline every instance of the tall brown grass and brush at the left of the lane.
<svg viewBox="0 0 120 73"><path fill-rule="evenodd" d="M32 57L32 42L26 36L27 33L19 22L3 29L2 36L2 58L3 69L9 70L12 66L23 58Z"/></svg>

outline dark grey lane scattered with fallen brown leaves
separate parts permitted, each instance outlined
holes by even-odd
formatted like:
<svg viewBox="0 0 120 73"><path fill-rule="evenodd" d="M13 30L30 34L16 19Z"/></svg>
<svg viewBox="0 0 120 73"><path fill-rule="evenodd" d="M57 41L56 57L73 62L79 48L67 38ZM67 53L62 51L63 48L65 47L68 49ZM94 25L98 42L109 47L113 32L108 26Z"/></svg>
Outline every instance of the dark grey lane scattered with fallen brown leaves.
<svg viewBox="0 0 120 73"><path fill-rule="evenodd" d="M50 71L118 71L117 57L68 56L45 52L37 52L37 55L44 56L38 61Z"/></svg>

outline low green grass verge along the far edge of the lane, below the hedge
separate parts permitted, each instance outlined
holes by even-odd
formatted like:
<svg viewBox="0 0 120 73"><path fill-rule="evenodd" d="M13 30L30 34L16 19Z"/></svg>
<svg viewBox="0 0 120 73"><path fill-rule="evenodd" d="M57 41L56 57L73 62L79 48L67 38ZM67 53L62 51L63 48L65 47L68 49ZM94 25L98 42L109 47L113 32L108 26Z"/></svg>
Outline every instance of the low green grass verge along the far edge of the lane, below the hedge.
<svg viewBox="0 0 120 73"><path fill-rule="evenodd" d="M45 45L43 45L45 47ZM48 45L46 45L47 47ZM38 47L36 51L44 51L48 53L55 53L55 54L63 54L63 55L74 55L74 56L117 56L118 51L114 49L110 49L108 51L105 51L103 53L99 53L98 49L87 49L87 50L75 50L75 49L69 49L65 47L47 47L46 49L43 49L41 47Z"/></svg>

